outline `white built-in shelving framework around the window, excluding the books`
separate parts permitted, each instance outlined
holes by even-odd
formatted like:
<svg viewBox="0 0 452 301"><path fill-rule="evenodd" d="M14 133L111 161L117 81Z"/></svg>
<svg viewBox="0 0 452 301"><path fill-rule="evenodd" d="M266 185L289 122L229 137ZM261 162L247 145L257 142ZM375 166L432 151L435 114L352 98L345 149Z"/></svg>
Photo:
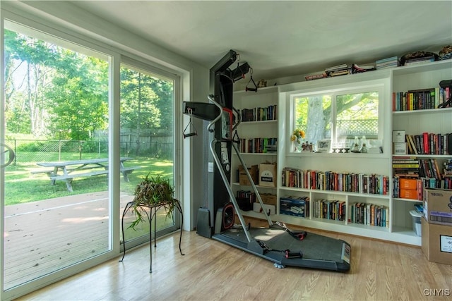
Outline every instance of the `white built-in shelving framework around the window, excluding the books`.
<svg viewBox="0 0 452 301"><path fill-rule="evenodd" d="M278 185L276 188L259 188L260 192L270 192L277 199L288 195L309 197L309 216L305 218L279 214L279 206L273 221L318 228L325 231L361 235L369 238L402 242L410 245L421 245L421 238L412 230L412 219L409 211L417 202L409 199L392 197L392 131L405 130L407 134L415 135L422 132L452 133L452 109L430 109L419 111L392 112L392 92L436 87L439 81L452 78L452 60L437 61L418 66L406 66L392 69L376 70L368 73L345 75L337 78L325 78L309 82L296 82L279 87L267 87L254 92L235 92L234 106L237 109L255 106L278 104L277 122L242 123L239 126L240 137L278 137L278 154L244 154L246 164L259 164L262 161L277 161ZM293 153L289 152L290 141L290 105L289 95L294 92L316 92L340 88L354 88L357 84L374 85L383 83L383 154L330 154L330 153ZM410 155L411 156L411 155ZM419 155L420 157L436 157L438 160L451 158L447 155ZM232 171L238 168L237 155L232 155ZM362 194L357 192L338 192L330 190L310 190L288 188L281 185L280 174L285 167L314 169L317 171L347 171L352 173L376 173L388 176L390 180L387 195ZM233 176L234 192L244 188L238 185ZM347 221L331 221L314 217L314 201L316 199L338 199L347 205L347 213L351 204L377 204L389 209L389 225L368 226ZM278 202L279 204L279 202ZM262 218L263 214L252 211L243 212L245 216Z"/></svg>

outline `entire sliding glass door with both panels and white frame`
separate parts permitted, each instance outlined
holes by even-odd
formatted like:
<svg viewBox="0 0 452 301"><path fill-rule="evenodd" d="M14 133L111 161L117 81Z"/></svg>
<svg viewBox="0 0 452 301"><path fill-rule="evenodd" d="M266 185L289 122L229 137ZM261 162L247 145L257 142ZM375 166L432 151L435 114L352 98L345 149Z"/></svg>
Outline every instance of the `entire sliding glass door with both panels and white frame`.
<svg viewBox="0 0 452 301"><path fill-rule="evenodd" d="M122 213L145 176L180 195L177 75L11 16L1 27L1 298L119 257ZM150 238L134 219L124 216L127 248ZM152 226L174 231L179 215L160 209Z"/></svg>

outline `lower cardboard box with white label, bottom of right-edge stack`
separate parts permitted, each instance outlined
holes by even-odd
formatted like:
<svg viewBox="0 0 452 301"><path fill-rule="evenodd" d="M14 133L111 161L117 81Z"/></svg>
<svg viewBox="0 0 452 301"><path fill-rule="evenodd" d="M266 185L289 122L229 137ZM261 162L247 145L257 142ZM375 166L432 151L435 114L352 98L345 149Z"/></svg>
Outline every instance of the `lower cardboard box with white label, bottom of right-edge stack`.
<svg viewBox="0 0 452 301"><path fill-rule="evenodd" d="M422 217L422 252L430 262L452 264L452 227L427 223Z"/></svg>

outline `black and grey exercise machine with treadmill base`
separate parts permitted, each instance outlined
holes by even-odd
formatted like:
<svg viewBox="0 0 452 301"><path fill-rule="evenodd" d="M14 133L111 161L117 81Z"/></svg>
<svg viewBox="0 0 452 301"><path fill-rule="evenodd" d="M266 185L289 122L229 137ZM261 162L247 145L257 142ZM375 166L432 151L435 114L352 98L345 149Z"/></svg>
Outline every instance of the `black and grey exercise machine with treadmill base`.
<svg viewBox="0 0 452 301"><path fill-rule="evenodd" d="M230 69L236 61L237 68ZM292 231L284 223L273 223L264 209L261 196L237 147L239 137L236 129L241 116L232 104L234 82L244 78L250 68L248 63L241 64L239 55L230 50L210 68L209 102L184 102L184 113L189 114L190 118L201 118L207 130L203 135L206 145L204 155L207 156L204 166L206 206L198 210L196 232L268 259L278 268L297 266L349 271L351 248L347 242L306 231ZM257 92L257 87L250 91ZM193 136L191 134L184 133L184 137ZM268 227L251 228L244 220L230 187L232 149L244 167ZM234 223L236 214L238 225Z"/></svg>

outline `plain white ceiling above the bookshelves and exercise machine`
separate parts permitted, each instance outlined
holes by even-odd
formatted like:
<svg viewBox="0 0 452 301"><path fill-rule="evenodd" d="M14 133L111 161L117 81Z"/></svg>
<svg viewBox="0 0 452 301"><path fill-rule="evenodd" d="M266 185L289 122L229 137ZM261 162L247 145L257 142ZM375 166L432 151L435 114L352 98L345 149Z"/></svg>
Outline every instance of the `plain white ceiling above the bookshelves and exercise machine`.
<svg viewBox="0 0 452 301"><path fill-rule="evenodd" d="M71 2L206 68L234 49L257 79L452 44L450 0Z"/></svg>

